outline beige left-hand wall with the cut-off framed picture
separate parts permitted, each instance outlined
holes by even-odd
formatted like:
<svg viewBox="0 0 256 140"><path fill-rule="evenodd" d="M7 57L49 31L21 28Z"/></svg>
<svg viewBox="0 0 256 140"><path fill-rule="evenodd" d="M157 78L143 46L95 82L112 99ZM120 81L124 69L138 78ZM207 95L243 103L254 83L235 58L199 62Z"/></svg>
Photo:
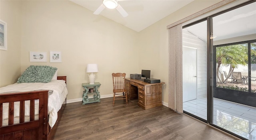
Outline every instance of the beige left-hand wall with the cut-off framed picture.
<svg viewBox="0 0 256 140"><path fill-rule="evenodd" d="M0 20L7 24L7 51L0 50L0 87L20 76L21 1L0 0Z"/></svg>

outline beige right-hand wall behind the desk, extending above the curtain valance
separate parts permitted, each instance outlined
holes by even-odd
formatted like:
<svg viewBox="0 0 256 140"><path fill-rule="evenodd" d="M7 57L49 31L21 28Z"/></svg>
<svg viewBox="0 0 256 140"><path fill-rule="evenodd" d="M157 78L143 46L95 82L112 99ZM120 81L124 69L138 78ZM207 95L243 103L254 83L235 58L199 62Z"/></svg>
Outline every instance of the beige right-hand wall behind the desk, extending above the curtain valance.
<svg viewBox="0 0 256 140"><path fill-rule="evenodd" d="M139 32L138 47L140 51L148 50L139 56L138 69L150 69L151 76L160 79L166 83L166 88L162 90L162 100L168 103L168 30L166 26L177 22L187 16L190 16L204 8L212 6L222 0L195 0L184 6L180 10L166 16L162 20L156 22L152 26Z"/></svg>

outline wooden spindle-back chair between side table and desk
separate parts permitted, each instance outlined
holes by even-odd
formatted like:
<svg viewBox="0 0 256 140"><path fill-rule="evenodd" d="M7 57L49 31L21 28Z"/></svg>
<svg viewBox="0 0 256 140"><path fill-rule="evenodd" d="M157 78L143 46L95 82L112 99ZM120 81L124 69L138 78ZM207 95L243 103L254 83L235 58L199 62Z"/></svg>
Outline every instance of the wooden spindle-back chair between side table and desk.
<svg viewBox="0 0 256 140"><path fill-rule="evenodd" d="M127 89L125 89L125 75L126 73L112 73L113 79L113 106L115 104L115 100L126 100L126 105L128 105L127 101ZM117 95L117 96L116 96Z"/></svg>

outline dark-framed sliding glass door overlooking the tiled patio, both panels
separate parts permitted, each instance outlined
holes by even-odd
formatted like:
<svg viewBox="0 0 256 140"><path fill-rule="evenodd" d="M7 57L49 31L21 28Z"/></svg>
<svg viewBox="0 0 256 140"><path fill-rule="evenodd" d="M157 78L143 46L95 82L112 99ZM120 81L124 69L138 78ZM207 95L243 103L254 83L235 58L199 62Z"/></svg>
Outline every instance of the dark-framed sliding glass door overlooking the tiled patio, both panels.
<svg viewBox="0 0 256 140"><path fill-rule="evenodd" d="M256 2L183 27L183 110L256 140Z"/></svg>

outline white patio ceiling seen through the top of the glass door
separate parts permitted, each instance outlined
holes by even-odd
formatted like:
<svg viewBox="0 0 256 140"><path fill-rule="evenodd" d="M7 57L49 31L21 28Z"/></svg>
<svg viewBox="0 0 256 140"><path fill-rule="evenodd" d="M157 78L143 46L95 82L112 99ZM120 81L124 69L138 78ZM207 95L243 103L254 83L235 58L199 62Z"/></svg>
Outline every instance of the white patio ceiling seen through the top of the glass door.
<svg viewBox="0 0 256 140"><path fill-rule="evenodd" d="M206 29L206 21L186 28L204 41ZM213 35L214 41L245 35L254 35L256 39L256 2L213 17Z"/></svg>

